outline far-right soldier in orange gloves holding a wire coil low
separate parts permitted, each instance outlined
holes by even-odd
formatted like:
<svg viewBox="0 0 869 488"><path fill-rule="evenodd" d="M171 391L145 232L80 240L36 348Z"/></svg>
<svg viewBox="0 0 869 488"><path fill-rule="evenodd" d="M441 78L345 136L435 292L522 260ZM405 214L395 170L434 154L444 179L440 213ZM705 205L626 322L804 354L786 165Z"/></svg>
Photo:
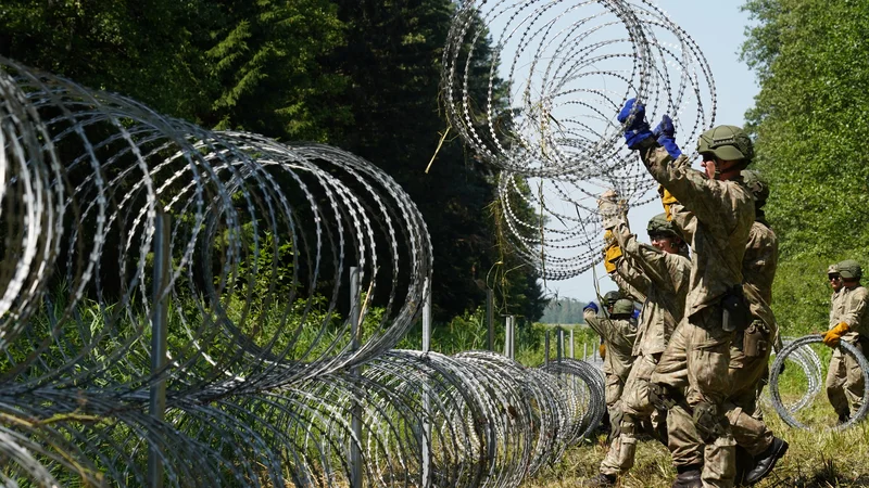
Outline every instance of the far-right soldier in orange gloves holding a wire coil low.
<svg viewBox="0 0 869 488"><path fill-rule="evenodd" d="M827 398L839 414L839 422L847 422L862 404L864 377L860 364L853 356L837 348L840 339L847 341L866 354L869 345L869 313L867 290L860 285L862 269L854 259L835 265L840 288L833 294L830 330L823 334L823 344L835 347L830 369L827 371ZM835 285L833 286L835 290Z"/></svg>

